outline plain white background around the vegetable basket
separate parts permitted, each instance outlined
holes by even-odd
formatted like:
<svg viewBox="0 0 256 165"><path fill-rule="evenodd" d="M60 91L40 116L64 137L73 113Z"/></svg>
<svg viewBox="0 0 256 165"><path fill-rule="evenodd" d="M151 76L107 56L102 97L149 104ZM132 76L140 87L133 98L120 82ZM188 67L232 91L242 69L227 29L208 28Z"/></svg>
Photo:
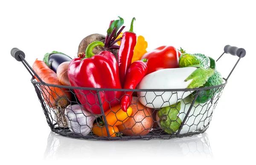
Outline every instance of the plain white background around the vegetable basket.
<svg viewBox="0 0 256 165"><path fill-rule="evenodd" d="M215 108L209 129L198 137L125 142L70 139L51 133L17 47L32 65L51 51L75 57L89 34L106 34L121 16L128 30L158 46L182 47L215 60L226 45L244 48ZM251 1L1 1L0 2L0 150L3 164L248 164L255 159L256 10ZM217 63L227 77L238 57ZM1 163L2 164L2 163ZM250 163L249 163L250 164Z"/></svg>

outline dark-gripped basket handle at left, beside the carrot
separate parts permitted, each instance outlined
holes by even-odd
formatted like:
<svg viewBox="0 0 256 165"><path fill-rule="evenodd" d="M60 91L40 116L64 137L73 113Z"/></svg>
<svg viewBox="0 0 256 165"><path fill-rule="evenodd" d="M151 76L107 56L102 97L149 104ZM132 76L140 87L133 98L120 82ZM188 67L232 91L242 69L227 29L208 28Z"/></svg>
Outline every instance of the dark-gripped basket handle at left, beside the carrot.
<svg viewBox="0 0 256 165"><path fill-rule="evenodd" d="M25 60L25 53L23 51L21 51L18 48L12 48L11 50L11 55L13 58L15 58L17 61L21 61L21 63L23 63L23 65L25 66L25 68L29 71L29 73L31 74L32 77L37 77L38 80L42 83L45 84L43 82L43 80L38 76L38 74L35 73L35 71L33 70L33 68L29 65L29 63L26 62ZM34 76L35 75L35 76Z"/></svg>

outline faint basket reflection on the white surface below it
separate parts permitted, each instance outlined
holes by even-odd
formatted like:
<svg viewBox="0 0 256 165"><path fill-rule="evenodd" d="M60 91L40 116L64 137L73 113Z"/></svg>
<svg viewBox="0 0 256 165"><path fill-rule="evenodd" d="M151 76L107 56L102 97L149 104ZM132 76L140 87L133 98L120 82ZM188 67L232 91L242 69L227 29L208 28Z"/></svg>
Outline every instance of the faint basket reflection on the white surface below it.
<svg viewBox="0 0 256 165"><path fill-rule="evenodd" d="M193 137L173 139L107 141L73 139L53 133L49 134L45 159L68 159L87 157L102 158L124 156L132 153L133 157L170 157L199 156L213 158L208 135L206 133Z"/></svg>

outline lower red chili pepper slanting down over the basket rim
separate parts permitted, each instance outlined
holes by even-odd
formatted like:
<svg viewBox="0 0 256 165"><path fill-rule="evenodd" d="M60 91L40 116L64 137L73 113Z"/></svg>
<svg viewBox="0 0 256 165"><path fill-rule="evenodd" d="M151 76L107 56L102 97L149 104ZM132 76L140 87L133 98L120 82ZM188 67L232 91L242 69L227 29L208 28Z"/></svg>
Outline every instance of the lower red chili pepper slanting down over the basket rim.
<svg viewBox="0 0 256 165"><path fill-rule="evenodd" d="M143 79L148 71L148 67L144 63L146 61L147 59L143 59L141 61L134 61L130 65L128 71L126 72L124 89L135 89L136 86L140 83L140 81ZM132 91L126 91L121 98L120 105L122 110L125 112L127 111L127 108L131 105L132 93Z"/></svg>

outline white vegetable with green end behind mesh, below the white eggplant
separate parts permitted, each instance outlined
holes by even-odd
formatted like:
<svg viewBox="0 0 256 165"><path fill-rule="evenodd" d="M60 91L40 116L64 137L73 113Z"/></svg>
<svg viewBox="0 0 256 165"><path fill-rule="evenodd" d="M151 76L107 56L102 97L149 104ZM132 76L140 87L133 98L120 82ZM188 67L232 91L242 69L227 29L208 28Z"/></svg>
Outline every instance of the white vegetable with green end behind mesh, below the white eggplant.
<svg viewBox="0 0 256 165"><path fill-rule="evenodd" d="M191 97L188 96L183 98L183 100L180 100L180 102L163 108L162 111L158 110L156 119L159 127L164 129L167 133L177 132L186 115L188 118L186 119L180 134L186 134L201 129L203 126L207 126L214 110L213 105L215 104L216 99L214 98L212 102L208 101L204 104L195 102L188 114L192 101Z"/></svg>

